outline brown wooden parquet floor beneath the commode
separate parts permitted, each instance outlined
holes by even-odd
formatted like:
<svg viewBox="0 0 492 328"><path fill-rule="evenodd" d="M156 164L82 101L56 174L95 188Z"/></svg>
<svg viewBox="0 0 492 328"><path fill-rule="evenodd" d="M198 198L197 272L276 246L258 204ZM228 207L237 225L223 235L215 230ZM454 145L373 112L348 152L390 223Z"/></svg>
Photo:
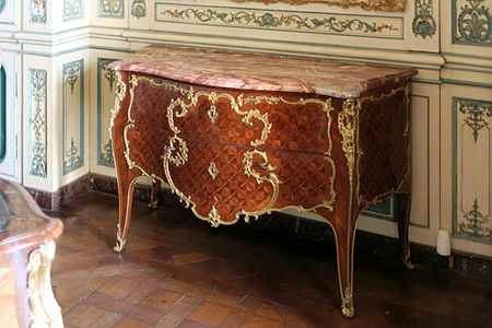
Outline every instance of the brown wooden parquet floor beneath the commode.
<svg viewBox="0 0 492 328"><path fill-rule="evenodd" d="M355 254L355 317L340 313L335 245L136 202L116 254L117 198L91 192L63 220L51 279L66 327L487 327L492 286ZM489 326L490 327L490 326Z"/></svg>

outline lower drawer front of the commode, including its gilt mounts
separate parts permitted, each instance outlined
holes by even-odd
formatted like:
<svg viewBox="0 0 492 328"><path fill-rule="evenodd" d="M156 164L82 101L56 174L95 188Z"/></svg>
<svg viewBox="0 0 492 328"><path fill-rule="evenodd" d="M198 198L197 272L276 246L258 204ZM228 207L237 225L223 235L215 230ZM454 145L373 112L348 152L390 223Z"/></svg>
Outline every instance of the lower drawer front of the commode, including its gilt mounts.
<svg viewBox="0 0 492 328"><path fill-rule="evenodd" d="M232 224L241 214L335 202L335 164L323 155L222 145L132 124L125 139L130 167L161 177L197 216L214 225Z"/></svg>

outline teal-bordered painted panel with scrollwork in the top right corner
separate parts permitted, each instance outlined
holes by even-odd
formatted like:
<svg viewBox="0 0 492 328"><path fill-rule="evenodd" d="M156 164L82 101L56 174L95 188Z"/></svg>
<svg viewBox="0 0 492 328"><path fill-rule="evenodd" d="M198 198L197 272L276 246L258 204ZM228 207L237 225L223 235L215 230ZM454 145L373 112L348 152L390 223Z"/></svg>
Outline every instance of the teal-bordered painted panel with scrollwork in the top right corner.
<svg viewBox="0 0 492 328"><path fill-rule="evenodd" d="M490 9L483 0L453 0L453 43L491 46L491 28Z"/></svg>

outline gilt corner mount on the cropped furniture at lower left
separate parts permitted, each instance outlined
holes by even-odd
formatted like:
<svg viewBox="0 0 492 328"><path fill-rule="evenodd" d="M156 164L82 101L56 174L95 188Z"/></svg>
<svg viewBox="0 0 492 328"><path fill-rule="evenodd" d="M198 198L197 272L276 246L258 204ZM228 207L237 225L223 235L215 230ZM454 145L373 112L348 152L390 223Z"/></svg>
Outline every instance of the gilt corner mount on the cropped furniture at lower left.
<svg viewBox="0 0 492 328"><path fill-rule="evenodd" d="M31 306L31 327L63 327L61 309L51 290L51 262L55 242L33 250L27 263L27 296Z"/></svg>

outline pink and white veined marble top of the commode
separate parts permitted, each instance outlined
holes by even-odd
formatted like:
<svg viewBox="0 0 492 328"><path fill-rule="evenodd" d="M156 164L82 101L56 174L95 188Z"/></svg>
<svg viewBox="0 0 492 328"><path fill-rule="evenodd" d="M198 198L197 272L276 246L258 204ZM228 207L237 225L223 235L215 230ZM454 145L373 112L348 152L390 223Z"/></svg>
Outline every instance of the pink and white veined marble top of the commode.
<svg viewBox="0 0 492 328"><path fill-rule="evenodd" d="M151 45L110 69L239 90L358 97L411 79L411 68L198 47Z"/></svg>

